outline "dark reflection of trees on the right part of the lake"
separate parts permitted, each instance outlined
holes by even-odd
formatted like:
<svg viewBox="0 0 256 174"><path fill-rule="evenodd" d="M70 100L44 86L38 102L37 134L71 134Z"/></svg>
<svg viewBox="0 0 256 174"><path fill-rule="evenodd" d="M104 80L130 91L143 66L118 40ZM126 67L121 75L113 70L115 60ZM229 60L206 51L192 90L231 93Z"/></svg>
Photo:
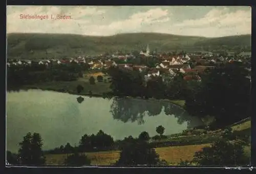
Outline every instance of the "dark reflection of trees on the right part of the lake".
<svg viewBox="0 0 256 174"><path fill-rule="evenodd" d="M142 100L132 98L113 98L111 104L111 113L114 119L123 122L137 121L143 124L143 117L147 113L148 116L157 116L164 108L165 115L174 115L178 124L188 123L188 127L194 127L202 124L200 119L189 116L189 114L180 106L168 101Z"/></svg>

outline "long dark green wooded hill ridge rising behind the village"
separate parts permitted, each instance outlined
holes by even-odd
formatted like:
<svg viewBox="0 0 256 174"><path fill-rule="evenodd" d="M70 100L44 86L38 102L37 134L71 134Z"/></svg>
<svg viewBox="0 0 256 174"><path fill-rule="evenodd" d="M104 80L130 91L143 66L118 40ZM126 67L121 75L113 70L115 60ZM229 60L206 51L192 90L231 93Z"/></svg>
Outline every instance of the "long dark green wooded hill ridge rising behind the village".
<svg viewBox="0 0 256 174"><path fill-rule="evenodd" d="M238 37L238 36L230 36ZM241 42L240 40L245 40ZM212 41L211 41L212 40ZM217 40L217 41L215 41ZM105 52L140 51L149 44L151 51L198 51L205 43L220 44L226 38L205 38L160 33L124 33L113 36L86 36L74 34L11 33L7 35L8 58L70 57L98 55ZM237 45L250 42L249 36L230 39ZM249 40L249 41L247 41Z"/></svg>

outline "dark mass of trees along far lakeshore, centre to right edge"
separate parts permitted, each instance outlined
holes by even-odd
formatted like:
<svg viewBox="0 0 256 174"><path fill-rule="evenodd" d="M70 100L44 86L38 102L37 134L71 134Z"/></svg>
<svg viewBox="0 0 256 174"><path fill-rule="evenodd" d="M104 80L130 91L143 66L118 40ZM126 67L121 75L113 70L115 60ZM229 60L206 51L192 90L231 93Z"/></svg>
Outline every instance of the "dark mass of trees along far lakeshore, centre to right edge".
<svg viewBox="0 0 256 174"><path fill-rule="evenodd" d="M145 81L139 71L110 68L110 88L115 96L185 100L185 110L198 118L214 116L225 126L251 116L250 72L243 64L226 63L200 74L201 81L184 80L184 74Z"/></svg>

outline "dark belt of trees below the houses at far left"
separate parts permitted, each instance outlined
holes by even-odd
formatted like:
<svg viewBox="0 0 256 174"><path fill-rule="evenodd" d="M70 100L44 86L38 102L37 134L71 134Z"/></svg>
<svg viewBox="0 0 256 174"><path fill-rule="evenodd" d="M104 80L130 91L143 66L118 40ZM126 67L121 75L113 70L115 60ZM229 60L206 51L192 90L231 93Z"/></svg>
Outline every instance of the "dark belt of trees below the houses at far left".
<svg viewBox="0 0 256 174"><path fill-rule="evenodd" d="M33 64L32 66L10 66L7 69L7 90L16 90L23 85L50 81L72 81L83 76L89 70L89 64Z"/></svg>

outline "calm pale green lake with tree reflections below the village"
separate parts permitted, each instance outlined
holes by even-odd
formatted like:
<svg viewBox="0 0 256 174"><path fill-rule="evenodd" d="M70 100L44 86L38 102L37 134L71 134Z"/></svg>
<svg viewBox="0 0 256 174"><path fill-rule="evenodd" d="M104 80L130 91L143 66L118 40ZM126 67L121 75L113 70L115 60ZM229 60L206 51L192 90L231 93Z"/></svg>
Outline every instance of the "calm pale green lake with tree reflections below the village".
<svg viewBox="0 0 256 174"><path fill-rule="evenodd" d="M78 145L82 135L100 129L117 140L138 137L142 131L155 136L158 125L165 127L164 135L170 135L202 124L164 100L78 97L41 90L7 93L7 150L17 152L28 132L39 133L43 149L52 149L68 142Z"/></svg>

